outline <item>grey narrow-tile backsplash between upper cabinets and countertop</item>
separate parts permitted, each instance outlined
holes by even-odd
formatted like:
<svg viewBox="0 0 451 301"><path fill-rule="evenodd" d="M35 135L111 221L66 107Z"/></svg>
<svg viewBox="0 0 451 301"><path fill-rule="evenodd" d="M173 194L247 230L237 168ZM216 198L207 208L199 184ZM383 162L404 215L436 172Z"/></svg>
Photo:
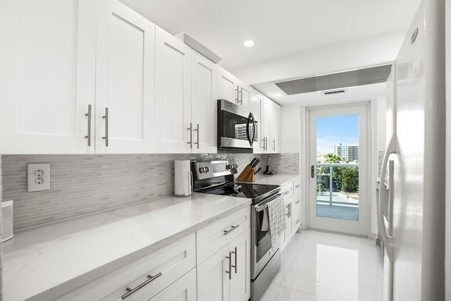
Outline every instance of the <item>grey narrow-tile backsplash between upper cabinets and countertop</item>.
<svg viewBox="0 0 451 301"><path fill-rule="evenodd" d="M36 154L1 156L0 193L14 199L14 231L152 201L174 193L175 159L235 159L239 172L266 154ZM299 173L299 154L271 154L273 173ZM50 190L27 192L27 164L50 163ZM0 194L1 196L1 194Z"/></svg>

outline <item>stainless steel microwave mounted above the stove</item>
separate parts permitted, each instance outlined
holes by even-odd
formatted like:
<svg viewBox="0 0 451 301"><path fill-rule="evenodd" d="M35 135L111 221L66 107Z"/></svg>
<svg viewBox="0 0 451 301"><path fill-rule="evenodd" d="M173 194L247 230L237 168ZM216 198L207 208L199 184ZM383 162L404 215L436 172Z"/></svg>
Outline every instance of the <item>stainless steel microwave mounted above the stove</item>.
<svg viewBox="0 0 451 301"><path fill-rule="evenodd" d="M218 150L252 152L258 141L258 123L252 111L218 99Z"/></svg>

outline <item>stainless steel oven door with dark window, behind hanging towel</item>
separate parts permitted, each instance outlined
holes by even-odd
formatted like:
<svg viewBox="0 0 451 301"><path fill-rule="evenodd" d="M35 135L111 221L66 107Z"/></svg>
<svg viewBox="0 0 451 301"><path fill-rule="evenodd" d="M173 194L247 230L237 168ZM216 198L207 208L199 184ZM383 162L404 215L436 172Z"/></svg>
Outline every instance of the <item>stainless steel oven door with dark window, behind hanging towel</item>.
<svg viewBox="0 0 451 301"><path fill-rule="evenodd" d="M273 202L279 197L283 197L281 194L273 195L272 197L265 199L252 206L251 210L251 276L252 279L257 278L260 271L269 262L269 259L276 253L280 246L280 239L275 245L271 243L271 231L269 231L268 223L264 223L264 219L268 219L268 203ZM266 224L268 225L266 227Z"/></svg>

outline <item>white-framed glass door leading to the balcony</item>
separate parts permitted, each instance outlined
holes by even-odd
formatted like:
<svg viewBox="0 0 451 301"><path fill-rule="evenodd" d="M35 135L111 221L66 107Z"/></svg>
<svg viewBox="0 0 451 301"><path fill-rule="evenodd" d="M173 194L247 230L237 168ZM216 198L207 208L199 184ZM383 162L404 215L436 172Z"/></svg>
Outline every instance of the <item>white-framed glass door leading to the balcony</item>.
<svg viewBox="0 0 451 301"><path fill-rule="evenodd" d="M309 228L368 234L367 110L309 110Z"/></svg>

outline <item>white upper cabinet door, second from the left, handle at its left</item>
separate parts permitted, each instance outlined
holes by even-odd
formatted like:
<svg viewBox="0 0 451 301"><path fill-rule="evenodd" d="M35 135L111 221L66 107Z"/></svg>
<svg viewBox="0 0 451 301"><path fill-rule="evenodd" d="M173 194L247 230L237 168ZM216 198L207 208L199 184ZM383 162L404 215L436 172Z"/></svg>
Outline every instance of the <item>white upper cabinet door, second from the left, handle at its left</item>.
<svg viewBox="0 0 451 301"><path fill-rule="evenodd" d="M98 5L96 152L152 152L155 25L117 0Z"/></svg>

